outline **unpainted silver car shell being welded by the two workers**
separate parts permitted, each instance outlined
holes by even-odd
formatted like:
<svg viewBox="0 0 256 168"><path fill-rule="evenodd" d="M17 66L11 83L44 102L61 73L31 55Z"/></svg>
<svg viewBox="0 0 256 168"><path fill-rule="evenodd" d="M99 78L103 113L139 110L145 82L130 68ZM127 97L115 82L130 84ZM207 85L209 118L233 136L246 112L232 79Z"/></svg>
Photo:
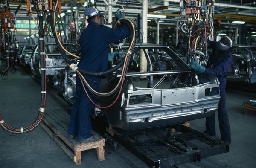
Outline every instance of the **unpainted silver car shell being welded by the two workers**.
<svg viewBox="0 0 256 168"><path fill-rule="evenodd" d="M115 49L111 67L125 57L128 46ZM145 70L140 65L145 58ZM100 92L108 93L120 78L119 68L102 79ZM55 75L55 87L70 103L76 89L73 70L61 70ZM118 94L99 98L98 104L113 103ZM215 113L219 102L219 81L215 77L198 75L171 48L164 45L137 45L131 54L121 94L109 108L96 108L95 116L104 116L113 127L137 130L160 127ZM97 117L97 116L96 116Z"/></svg>

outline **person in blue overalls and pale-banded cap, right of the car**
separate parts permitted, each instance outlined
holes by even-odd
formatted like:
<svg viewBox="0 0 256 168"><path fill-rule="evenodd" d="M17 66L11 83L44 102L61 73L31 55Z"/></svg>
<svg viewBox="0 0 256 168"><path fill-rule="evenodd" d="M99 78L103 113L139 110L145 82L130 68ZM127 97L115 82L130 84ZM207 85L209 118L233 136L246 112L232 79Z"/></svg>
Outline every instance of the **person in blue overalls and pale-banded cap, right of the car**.
<svg viewBox="0 0 256 168"><path fill-rule="evenodd" d="M209 45L209 46L208 46ZM191 62L190 67L199 74L216 76L220 82L220 101L218 104L218 121L221 133L221 140L231 143L230 125L226 110L226 83L227 74L232 64L232 55L230 47L232 40L224 36L220 41L207 41L208 48L212 48L212 53L209 56L206 68L198 64L197 60ZM206 133L209 136L215 136L215 114L206 118L205 122Z"/></svg>

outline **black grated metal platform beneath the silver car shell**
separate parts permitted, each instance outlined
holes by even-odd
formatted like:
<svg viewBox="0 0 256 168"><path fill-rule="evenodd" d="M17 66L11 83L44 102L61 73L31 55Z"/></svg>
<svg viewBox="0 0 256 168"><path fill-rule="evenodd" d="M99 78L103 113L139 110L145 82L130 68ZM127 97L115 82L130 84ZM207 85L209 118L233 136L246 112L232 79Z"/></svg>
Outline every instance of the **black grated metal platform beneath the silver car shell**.
<svg viewBox="0 0 256 168"><path fill-rule="evenodd" d="M185 162L229 152L229 144L183 125L175 125L180 134L169 137L131 141L115 133L114 139L145 162L149 167L170 167Z"/></svg>

